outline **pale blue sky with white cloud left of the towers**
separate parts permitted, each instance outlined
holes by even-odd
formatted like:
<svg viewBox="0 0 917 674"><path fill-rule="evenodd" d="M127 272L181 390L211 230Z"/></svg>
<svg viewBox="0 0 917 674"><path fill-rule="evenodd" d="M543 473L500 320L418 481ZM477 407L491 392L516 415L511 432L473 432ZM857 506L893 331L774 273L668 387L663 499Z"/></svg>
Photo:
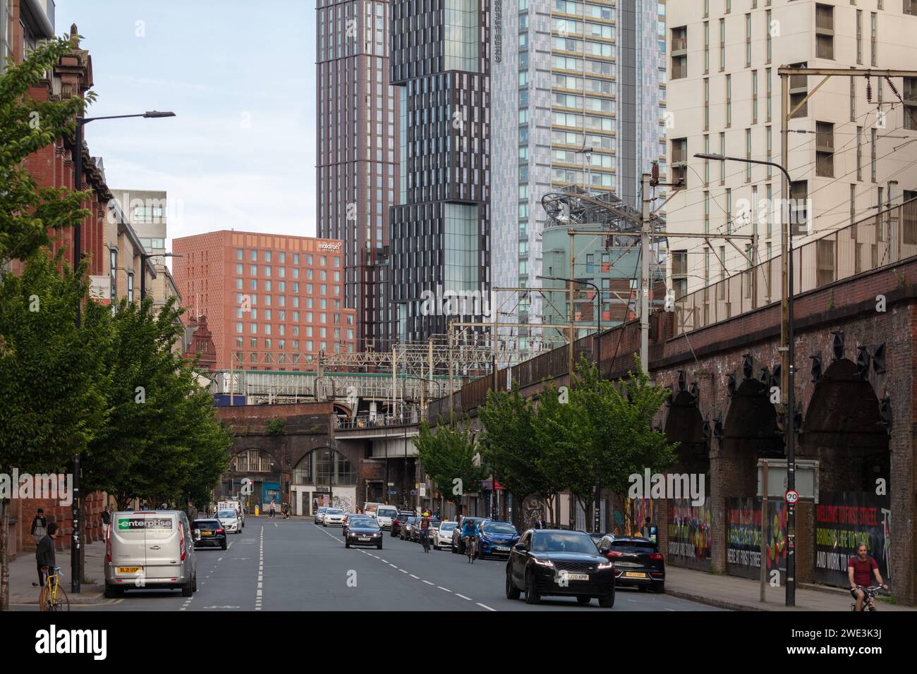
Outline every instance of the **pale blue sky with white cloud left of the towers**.
<svg viewBox="0 0 917 674"><path fill-rule="evenodd" d="M169 238L217 229L315 236L311 0L56 0L98 99L85 127L113 190L168 193Z"/></svg>

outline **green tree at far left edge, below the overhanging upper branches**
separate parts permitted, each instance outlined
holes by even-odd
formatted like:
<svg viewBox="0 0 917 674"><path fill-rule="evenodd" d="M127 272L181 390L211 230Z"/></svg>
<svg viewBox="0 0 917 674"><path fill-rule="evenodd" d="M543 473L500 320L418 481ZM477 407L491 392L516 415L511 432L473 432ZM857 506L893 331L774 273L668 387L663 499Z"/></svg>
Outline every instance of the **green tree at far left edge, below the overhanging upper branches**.
<svg viewBox="0 0 917 674"><path fill-rule="evenodd" d="M71 472L107 420L98 326L77 329L85 268L73 273L59 253L27 260L20 276L0 273L0 472ZM9 507L0 521L0 610L8 608Z"/></svg>

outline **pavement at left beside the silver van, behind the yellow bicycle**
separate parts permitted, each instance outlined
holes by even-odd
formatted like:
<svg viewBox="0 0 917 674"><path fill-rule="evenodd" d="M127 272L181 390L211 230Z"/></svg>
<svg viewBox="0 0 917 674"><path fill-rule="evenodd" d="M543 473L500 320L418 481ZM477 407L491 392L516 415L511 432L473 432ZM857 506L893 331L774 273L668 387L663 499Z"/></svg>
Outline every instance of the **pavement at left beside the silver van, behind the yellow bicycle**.
<svg viewBox="0 0 917 674"><path fill-rule="evenodd" d="M63 572L62 587L67 591L71 604L92 604L105 602L105 574L103 572L103 559L105 558L105 543L92 543L85 547L83 567L83 585L79 594L70 591L70 549L57 550L55 553L57 565ZM94 580L87 583L85 580ZM11 605L32 604L39 605L39 592L41 588L34 587L33 582L39 581L38 570L35 566L35 552L25 551L19 553L9 564L9 602Z"/></svg>

